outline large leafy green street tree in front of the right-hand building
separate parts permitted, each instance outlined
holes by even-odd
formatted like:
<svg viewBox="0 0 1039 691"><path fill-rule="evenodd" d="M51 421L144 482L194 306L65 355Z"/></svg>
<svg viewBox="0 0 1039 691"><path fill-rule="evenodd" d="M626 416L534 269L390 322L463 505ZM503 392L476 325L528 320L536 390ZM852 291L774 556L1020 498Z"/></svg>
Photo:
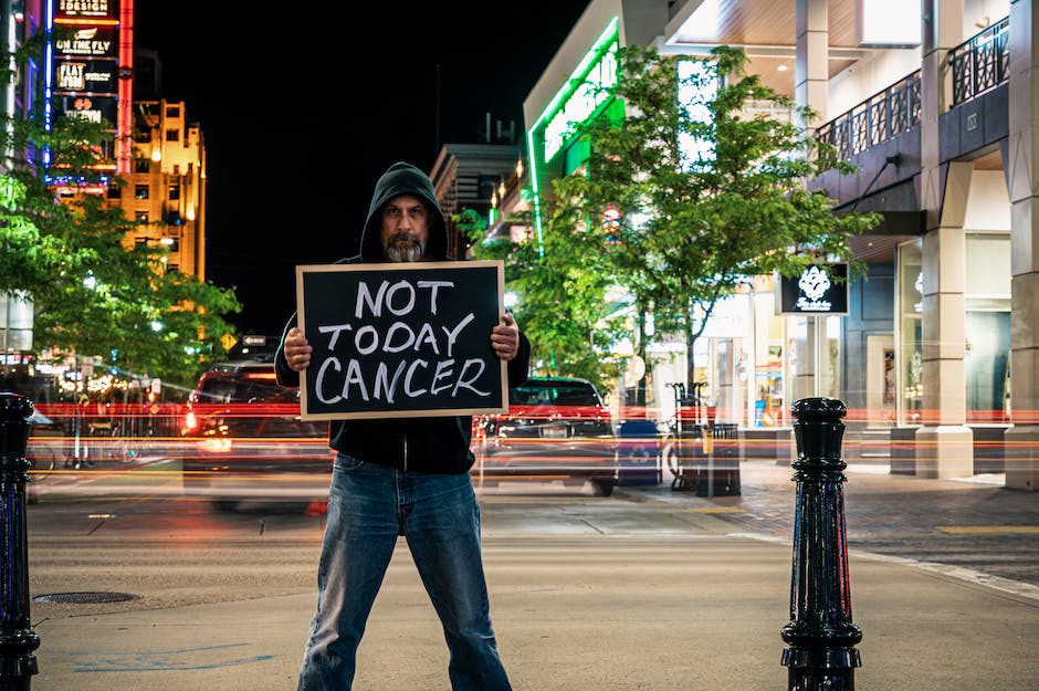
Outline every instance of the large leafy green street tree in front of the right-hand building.
<svg viewBox="0 0 1039 691"><path fill-rule="evenodd" d="M606 247L615 280L640 313L651 310L657 333L684 334L692 384L695 341L721 299L754 276L794 276L827 259L850 260L852 275L861 274L848 240L880 217L837 213L823 191L807 189L826 170L852 167L805 137L798 123L815 114L746 74L742 51L723 46L691 59L626 46L618 64L615 97L627 113L622 122L598 118L584 135L584 175L556 185L573 207L560 218L619 212L616 242ZM748 108L763 102L795 117Z"/></svg>

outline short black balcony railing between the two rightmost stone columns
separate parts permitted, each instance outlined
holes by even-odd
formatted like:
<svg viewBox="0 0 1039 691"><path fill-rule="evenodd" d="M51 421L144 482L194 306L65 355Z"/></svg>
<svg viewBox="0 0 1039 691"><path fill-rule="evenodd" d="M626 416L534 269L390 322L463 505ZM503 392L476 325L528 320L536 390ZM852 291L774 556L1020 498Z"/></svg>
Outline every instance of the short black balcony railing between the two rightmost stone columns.
<svg viewBox="0 0 1039 691"><path fill-rule="evenodd" d="M948 54L956 106L1003 84L1010 76L1010 18L996 22Z"/></svg>

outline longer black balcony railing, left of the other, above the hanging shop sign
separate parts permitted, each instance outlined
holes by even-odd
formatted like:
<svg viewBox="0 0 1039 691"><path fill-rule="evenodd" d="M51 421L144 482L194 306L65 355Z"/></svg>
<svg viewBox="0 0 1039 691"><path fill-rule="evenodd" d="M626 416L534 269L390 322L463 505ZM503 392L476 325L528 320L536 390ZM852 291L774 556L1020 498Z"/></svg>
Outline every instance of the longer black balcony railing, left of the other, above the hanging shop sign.
<svg viewBox="0 0 1039 691"><path fill-rule="evenodd" d="M816 138L837 147L840 157L847 160L917 125L919 70L822 125L816 130Z"/></svg>

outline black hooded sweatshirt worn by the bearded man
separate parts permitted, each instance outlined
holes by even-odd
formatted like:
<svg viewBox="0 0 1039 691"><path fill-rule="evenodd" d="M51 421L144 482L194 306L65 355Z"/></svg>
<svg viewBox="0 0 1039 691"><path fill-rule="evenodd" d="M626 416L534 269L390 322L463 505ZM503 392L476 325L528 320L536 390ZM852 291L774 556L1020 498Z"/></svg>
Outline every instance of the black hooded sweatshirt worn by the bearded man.
<svg viewBox="0 0 1039 691"><path fill-rule="evenodd" d="M430 219L427 254L434 261L451 259L448 255L448 224L432 182L414 166L400 161L390 166L376 182L361 233L360 254L340 259L337 264L387 261L379 238L381 210L386 202L401 195L419 197L426 202ZM284 353L285 337L295 325L296 315L293 314L274 356L277 383L285 387L300 386L300 373L288 367ZM520 350L506 367L508 386L518 386L526 380L529 362L531 344L526 336L520 334ZM412 472L460 473L468 472L473 464L473 454L469 450L472 440L470 416L333 420L328 436L328 446L336 451L369 463Z"/></svg>

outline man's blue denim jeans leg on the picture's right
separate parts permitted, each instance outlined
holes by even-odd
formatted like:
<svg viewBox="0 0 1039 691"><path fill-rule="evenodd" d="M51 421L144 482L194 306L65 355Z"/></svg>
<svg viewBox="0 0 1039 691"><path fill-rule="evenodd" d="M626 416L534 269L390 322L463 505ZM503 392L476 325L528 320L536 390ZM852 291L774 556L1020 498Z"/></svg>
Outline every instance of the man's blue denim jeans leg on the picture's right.
<svg viewBox="0 0 1039 691"><path fill-rule="evenodd" d="M491 625L472 480L469 473L405 478L413 503L405 511L403 533L443 625L451 688L510 691Z"/></svg>

